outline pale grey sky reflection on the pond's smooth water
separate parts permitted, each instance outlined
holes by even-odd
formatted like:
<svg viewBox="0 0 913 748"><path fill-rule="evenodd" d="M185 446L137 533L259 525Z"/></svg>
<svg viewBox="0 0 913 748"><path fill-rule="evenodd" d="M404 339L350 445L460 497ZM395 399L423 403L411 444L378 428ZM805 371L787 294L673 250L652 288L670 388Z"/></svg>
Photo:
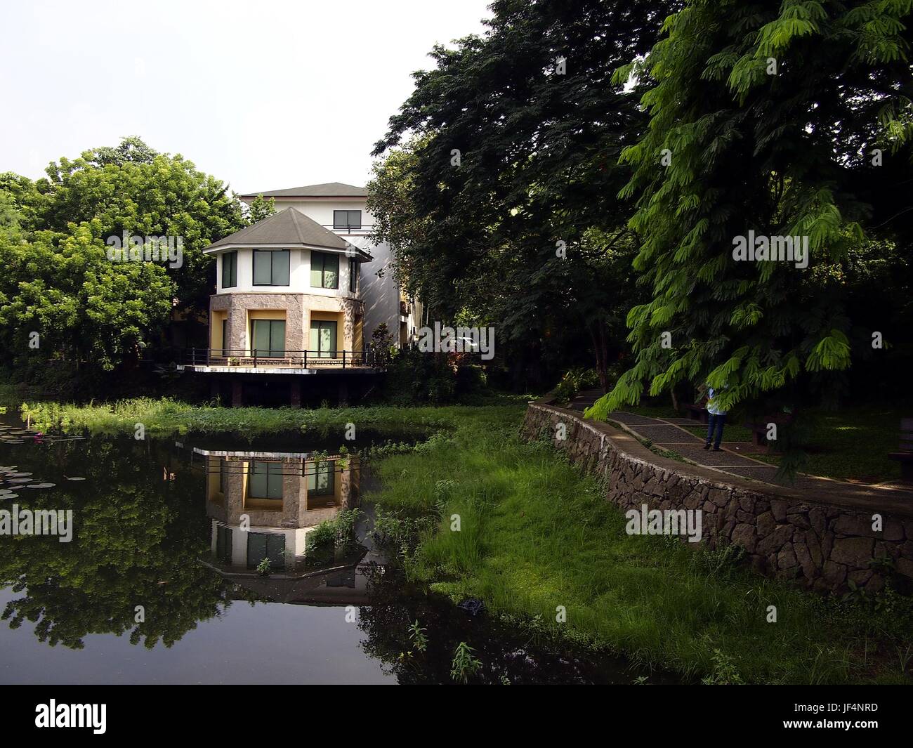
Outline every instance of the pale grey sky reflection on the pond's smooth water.
<svg viewBox="0 0 913 748"><path fill-rule="evenodd" d="M0 609L20 596L0 590ZM83 637L83 649L49 647L28 621L15 631L2 622L0 683L394 683L345 615L345 606L238 601L172 648L152 650L110 634Z"/></svg>

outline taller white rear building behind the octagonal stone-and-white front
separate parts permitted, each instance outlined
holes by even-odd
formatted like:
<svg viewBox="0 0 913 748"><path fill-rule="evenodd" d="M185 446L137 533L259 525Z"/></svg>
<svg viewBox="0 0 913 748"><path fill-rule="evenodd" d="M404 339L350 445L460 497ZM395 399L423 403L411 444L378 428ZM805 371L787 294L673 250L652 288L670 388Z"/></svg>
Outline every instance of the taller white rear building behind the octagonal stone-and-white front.
<svg viewBox="0 0 913 748"><path fill-rule="evenodd" d="M370 239L374 220L367 211L368 192L364 187L340 182L306 184L240 197L249 205L257 195L273 198L277 211L298 209L321 227L370 254L373 262L362 268L360 279L365 305L365 340L370 341L372 333L385 323L395 346L402 347L415 341L416 331L423 324L422 304L407 298L397 285L391 266L393 253L390 247L374 244Z"/></svg>

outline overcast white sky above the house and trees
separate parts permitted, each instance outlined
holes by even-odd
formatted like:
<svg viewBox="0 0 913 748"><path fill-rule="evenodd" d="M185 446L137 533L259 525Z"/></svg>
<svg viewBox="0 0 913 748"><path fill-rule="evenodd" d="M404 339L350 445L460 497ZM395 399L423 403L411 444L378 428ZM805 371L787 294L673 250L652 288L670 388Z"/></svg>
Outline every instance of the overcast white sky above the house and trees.
<svg viewBox="0 0 913 748"><path fill-rule="evenodd" d="M140 135L238 193L364 184L436 42L488 0L0 0L0 172Z"/></svg>

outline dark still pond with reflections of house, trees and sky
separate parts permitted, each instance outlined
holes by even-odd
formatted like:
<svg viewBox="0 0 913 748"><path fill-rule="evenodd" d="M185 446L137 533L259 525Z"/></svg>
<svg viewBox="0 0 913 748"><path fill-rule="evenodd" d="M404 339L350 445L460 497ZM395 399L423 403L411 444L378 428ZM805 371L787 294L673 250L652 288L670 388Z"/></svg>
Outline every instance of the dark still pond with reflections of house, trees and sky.
<svg viewBox="0 0 913 748"><path fill-rule="evenodd" d="M410 590L374 547L357 452L415 435L37 441L3 417L0 682L451 683L461 642L470 682L671 680ZM317 543L353 509L356 542Z"/></svg>

